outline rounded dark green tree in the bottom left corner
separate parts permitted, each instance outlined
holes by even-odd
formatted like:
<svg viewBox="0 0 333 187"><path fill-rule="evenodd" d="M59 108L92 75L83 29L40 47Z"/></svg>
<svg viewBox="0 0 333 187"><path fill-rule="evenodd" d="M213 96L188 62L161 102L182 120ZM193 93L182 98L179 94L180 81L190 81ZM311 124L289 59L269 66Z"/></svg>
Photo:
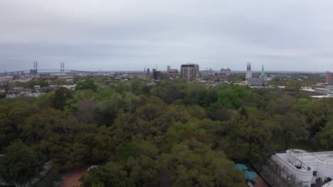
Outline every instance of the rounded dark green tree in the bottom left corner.
<svg viewBox="0 0 333 187"><path fill-rule="evenodd" d="M43 157L21 141L15 141L4 149L0 157L0 178L6 183L23 185L43 169Z"/></svg>

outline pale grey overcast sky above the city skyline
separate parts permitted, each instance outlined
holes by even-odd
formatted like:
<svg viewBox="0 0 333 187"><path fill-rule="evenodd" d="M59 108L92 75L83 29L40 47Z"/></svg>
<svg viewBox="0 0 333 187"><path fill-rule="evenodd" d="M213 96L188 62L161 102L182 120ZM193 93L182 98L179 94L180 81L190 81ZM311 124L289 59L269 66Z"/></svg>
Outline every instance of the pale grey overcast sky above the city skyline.
<svg viewBox="0 0 333 187"><path fill-rule="evenodd" d="M333 71L333 1L0 0L0 72Z"/></svg>

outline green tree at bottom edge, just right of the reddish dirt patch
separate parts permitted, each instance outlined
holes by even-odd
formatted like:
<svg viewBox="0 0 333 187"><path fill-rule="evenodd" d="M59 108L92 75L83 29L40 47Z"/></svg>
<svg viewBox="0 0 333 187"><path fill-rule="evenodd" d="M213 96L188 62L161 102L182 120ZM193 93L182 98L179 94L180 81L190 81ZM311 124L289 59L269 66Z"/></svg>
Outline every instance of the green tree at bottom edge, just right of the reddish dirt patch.
<svg viewBox="0 0 333 187"><path fill-rule="evenodd" d="M83 186L157 186L157 154L154 145L134 138L117 147L111 162L92 169L81 181Z"/></svg>

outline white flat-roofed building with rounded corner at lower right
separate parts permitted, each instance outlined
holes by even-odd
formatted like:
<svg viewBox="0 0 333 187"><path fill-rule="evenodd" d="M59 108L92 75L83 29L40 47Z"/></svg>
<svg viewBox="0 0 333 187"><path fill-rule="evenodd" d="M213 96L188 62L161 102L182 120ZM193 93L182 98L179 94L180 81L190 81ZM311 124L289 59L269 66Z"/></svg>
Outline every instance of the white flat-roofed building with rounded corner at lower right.
<svg viewBox="0 0 333 187"><path fill-rule="evenodd" d="M333 178L333 152L306 152L301 149L288 149L286 153L272 157L285 167L284 175L293 175L304 186L319 181L329 182Z"/></svg>

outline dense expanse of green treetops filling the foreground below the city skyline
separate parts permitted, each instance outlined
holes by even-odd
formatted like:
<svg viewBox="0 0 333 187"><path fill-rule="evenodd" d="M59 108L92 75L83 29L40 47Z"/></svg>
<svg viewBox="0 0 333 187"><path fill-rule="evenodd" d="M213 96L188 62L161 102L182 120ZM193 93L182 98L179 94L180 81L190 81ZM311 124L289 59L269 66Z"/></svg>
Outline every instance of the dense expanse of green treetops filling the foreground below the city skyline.
<svg viewBox="0 0 333 187"><path fill-rule="evenodd" d="M26 183L51 160L97 164L83 186L245 186L235 163L333 149L333 99L181 79L77 84L0 101L1 179Z"/></svg>

